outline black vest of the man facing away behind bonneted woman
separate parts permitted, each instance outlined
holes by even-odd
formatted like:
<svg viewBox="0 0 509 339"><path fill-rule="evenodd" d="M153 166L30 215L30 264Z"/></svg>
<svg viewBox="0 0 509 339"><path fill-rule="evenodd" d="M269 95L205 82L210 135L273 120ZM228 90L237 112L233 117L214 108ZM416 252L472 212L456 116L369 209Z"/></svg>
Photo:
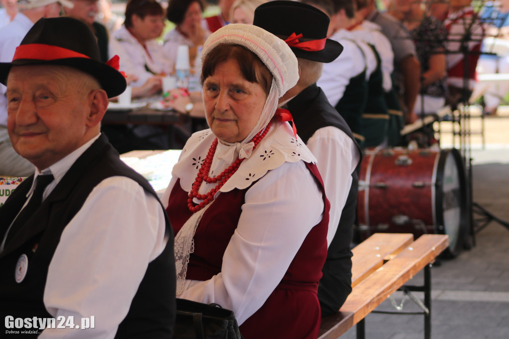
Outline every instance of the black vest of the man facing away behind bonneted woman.
<svg viewBox="0 0 509 339"><path fill-rule="evenodd" d="M364 75L364 72L362 74ZM316 83L290 100L288 110L293 116L299 136L305 143L318 129L334 126L344 131L357 145L345 119L332 107L322 89ZM358 145L357 149L362 156ZM358 175L354 171L352 173L352 187L348 192L337 231L327 250L327 259L322 269L323 276L318 285L318 299L322 316L336 313L352 291L352 251L350 250L350 243L352 242L353 224L356 217L357 191Z"/></svg>

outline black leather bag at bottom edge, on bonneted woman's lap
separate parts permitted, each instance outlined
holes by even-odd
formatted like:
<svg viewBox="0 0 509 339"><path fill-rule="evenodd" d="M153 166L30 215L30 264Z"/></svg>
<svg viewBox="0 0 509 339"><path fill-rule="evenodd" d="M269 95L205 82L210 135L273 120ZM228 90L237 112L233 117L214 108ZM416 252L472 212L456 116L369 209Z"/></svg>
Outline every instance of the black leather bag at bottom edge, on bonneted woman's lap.
<svg viewBox="0 0 509 339"><path fill-rule="evenodd" d="M232 310L177 298L174 339L243 339Z"/></svg>

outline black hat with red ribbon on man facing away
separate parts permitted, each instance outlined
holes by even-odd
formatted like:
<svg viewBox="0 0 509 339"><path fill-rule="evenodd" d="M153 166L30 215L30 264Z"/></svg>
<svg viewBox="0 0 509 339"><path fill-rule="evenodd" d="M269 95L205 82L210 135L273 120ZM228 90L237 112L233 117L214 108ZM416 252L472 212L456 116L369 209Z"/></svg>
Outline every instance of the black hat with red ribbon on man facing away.
<svg viewBox="0 0 509 339"><path fill-rule="evenodd" d="M285 40L297 58L330 63L343 46L327 39L329 21L313 6L281 0L258 6L253 24Z"/></svg>

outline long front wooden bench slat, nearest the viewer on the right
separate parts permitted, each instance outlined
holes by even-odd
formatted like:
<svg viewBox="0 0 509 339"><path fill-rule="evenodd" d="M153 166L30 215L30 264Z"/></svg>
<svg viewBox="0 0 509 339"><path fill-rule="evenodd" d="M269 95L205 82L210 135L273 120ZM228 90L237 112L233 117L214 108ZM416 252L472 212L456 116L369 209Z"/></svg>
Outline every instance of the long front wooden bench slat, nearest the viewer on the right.
<svg viewBox="0 0 509 339"><path fill-rule="evenodd" d="M337 338L432 262L449 244L445 235L420 236L353 288L340 312L322 318L320 339Z"/></svg>

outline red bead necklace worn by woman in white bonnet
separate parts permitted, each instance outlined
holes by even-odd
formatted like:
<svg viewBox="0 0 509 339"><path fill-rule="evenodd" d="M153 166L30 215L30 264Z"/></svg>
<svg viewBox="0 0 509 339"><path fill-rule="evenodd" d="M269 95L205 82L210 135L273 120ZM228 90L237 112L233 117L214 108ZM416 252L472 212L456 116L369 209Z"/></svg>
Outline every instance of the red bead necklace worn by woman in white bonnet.
<svg viewBox="0 0 509 339"><path fill-rule="evenodd" d="M269 121L267 126L263 130L258 132L258 134L251 139L251 141L254 143L253 151L258 146L258 144L260 144L265 135L267 135L267 132L270 129L271 122L272 121ZM203 161L202 166L198 171L198 175L196 176L196 179L194 179L194 183L191 186L191 191L189 192L187 199L187 207L189 208L189 211L191 211L191 213L200 211L202 208L210 204L214 200L214 194L221 189L221 187L228 181L228 179L230 179L231 176L233 176L235 172L237 172L237 169L239 168L241 162L244 160L244 158L239 159L239 157L237 156L237 160L235 160L230 166L224 168L224 171L222 171L219 175L211 178L209 177L209 171L210 165L212 164L212 159L214 158L214 154L216 153L216 147L217 138L215 138L214 141L212 142L212 145L210 145L207 157ZM217 182L217 185L216 187L212 188L205 194L198 194L198 190L200 189L200 186L204 181L209 184ZM203 201L198 205L194 205L192 201L193 198Z"/></svg>

